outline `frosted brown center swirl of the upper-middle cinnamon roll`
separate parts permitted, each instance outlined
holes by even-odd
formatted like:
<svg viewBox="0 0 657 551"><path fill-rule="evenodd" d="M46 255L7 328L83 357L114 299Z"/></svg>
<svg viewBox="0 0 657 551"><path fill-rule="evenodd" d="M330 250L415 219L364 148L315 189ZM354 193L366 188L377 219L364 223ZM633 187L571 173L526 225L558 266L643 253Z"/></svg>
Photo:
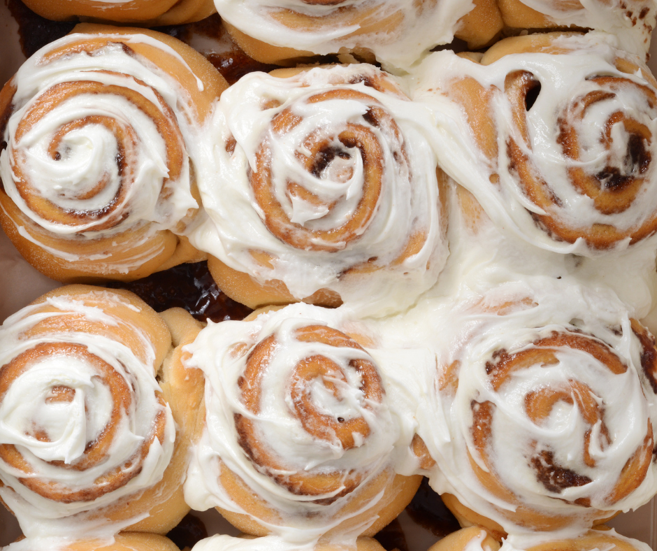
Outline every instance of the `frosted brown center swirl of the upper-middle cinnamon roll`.
<svg viewBox="0 0 657 551"><path fill-rule="evenodd" d="M329 117L338 109L347 117L335 122ZM338 89L273 118L250 183L263 222L280 241L335 252L363 235L395 176L410 181L394 118L372 96Z"/></svg>

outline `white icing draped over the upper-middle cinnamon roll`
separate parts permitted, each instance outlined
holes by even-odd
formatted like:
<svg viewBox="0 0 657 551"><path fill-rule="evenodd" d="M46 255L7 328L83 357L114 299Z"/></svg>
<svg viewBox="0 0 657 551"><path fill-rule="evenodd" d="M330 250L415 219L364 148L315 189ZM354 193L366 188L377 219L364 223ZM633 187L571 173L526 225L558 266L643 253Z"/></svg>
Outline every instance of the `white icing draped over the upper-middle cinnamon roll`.
<svg viewBox="0 0 657 551"><path fill-rule="evenodd" d="M435 283L447 257L442 234L445 221L440 220L435 154L427 141L432 131L428 111L401 94L384 94L360 82L348 84L362 78L384 78L384 73L366 65L317 68L292 78L251 73L226 90L213 131L218 176L199 183L208 217L190 239L196 248L259 282L282 280L297 299L328 288L361 315L383 315L410 306ZM336 89L368 94L371 99L308 102ZM277 106L263 108L265 101L275 101ZM396 136L394 127L385 121L377 126L368 122L363 115L370 108L390 113L401 135ZM270 124L287 110L303 119L280 136ZM357 148L348 148L337 138L349 125L364 127L381 148L383 185L375 214L355 230L356 238L328 243L335 250L312 250L327 245L321 236L313 237L315 234L305 250L277 238L266 226L250 182L260 144L270 145L273 196L285 215L301 224L299 231L327 231L340 228L358 214L356 206L363 194L363 159ZM319 177L313 176L300 160L308 136L326 139L349 158L335 157ZM226 147L233 138L237 145L231 154ZM290 182L315 194L322 205L300 197L289 199ZM335 207L327 211L326 204L334 201ZM395 265L409 236L419 231L426 236L421 250ZM271 255L273 268L256 262L250 251ZM381 269L343 277L345 271L373 257L374 266Z"/></svg>

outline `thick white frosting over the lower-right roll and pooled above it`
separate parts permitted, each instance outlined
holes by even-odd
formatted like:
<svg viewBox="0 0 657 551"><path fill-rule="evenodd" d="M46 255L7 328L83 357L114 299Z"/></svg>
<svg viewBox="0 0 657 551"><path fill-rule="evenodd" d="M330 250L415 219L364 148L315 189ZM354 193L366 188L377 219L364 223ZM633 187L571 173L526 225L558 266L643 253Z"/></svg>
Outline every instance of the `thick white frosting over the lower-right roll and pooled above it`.
<svg viewBox="0 0 657 551"><path fill-rule="evenodd" d="M578 259L543 252L518 238L501 234L495 224L486 221L485 217L479 219L475 229L472 229L470 218L464 220L454 215L458 209L459 202L454 199L450 208L453 216L449 229L449 239L454 245L438 285L424 294L407 313L368 321L370 338L380 347L377 352L381 357L390 358L389 364L379 360L382 370L396 373L396 396L404 398L403 402L398 402L398 415L409 426L415 424L417 434L426 439L428 451L437 461L435 468L426 471L426 474L431 475L431 485L437 492L456 494L465 505L503 524L510 533L526 534L530 529L519 527L503 514L510 513L514 506L491 496L468 467L467 450L475 453L470 433L470 405L474 399L486 401L484 398L490 397L492 392L491 383L486 378L486 362L491 361L493 352L524 350L553 330L578 335L592 334L596 340L600 336L609 339L614 354L628 365L625 373L610 376L605 382L602 378L605 368L596 366L595 359L586 353L576 350L572 353L572 359L568 359L570 352L564 353L563 357L558 355L558 368L549 372L550 375L547 368L535 367L531 375L512 378L499 398L503 400L499 407L504 415L495 420L500 424L499 427L496 425L496 430L499 430L496 438L499 439L495 444L495 461L500 461L500 464L495 464L494 468L500 469L503 480L511 480L514 495L524 496L519 487L526 486L527 491L529 488L537 492L528 498L531 505L551 501L550 506L558 515L573 515L570 526L555 529L546 537L558 539L581 534L590 526L589 520L585 519L588 514L586 509L580 509L582 516L577 520L577 512L568 510L577 509L577 506L560 501L568 499L565 494L553 493L550 496L542 483L536 481L535 472L526 459L528 443L521 435L532 424L524 415L522 396L532 385L542 388L553 381L558 386L575 378L572 373L579 371L583 372L582 377L586 376L591 381L587 384L602 385L600 389L595 389L599 393L595 395L600 396L606 413L619 413L619 425L616 425L619 429L614 436L617 438L614 445L604 451L598 450L600 456L596 457L596 461L600 461L600 465L609 462L600 473L587 471L586 475L592 482L583 488L590 490L595 487L599 498L597 503L605 507L605 480L613 480L635 451L637 443L644 441L648 433L648 420L653 425L655 422L657 403L651 382L644 375L642 344L630 327L630 317L636 316L637 312L645 315L649 310L646 304L651 303L654 283L647 283L650 278L654 279L654 252L646 249L626 252L629 266L644 262L644 271L641 275L641 271L633 273L633 268L626 265L614 276L616 260L604 257ZM609 279L600 278L603 273L609 275ZM627 278L633 276L635 279L630 282ZM635 296L636 306L628 310L609 284L615 289L626 290L643 287L643 292ZM628 294L625 296L630 299ZM531 297L531 307L526 305L525 309L508 315L496 313L496 308L502 309L500 305L521 305L523 299L528 297ZM479 344L483 348L479 348ZM397 347L400 351L389 356L388 350L394 351ZM438 390L447 378L447 368L454 362L459 362L461 366L456 397L443 395L444 392ZM574 371L569 373L569 369ZM554 380L551 378L553 375ZM533 380L534 376L546 378ZM618 380L614 380L616 378ZM620 391L621 387L626 391ZM626 396L628 393L635 396L631 407L624 399L618 399L619 394ZM550 438L557 438L556 441L565 445L558 453L568 457L568 461L575 461L577 454L580 459L582 457L581 438L582 431L586 429L577 408L569 410L568 407L560 409L554 418L550 417L549 422L554 426L549 425L549 429L544 427L536 434L551 431ZM629 415L626 417L628 424L623 424L623 415ZM520 426L514 424L516 422ZM613 423L609 422L610 425ZM514 435L512 440L509 439L510 434ZM556 446L556 441L552 445ZM615 454L619 455L614 460L612 457ZM564 455L558 457L563 458ZM573 464L562 460L573 471L577 470ZM476 461L486 468L480 459ZM654 495L656 482L654 463L651 463L640 485L616 504L617 509L637 508L648 501ZM586 490L577 487L568 490L572 494L578 491ZM612 506L608 509L613 511Z"/></svg>

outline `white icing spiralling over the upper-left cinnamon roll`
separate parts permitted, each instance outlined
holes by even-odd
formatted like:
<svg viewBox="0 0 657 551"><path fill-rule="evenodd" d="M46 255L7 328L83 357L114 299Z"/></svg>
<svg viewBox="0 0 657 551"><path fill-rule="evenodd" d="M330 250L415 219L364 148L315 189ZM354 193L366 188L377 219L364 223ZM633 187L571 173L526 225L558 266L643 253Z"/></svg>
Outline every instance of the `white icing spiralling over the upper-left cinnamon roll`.
<svg viewBox="0 0 657 551"><path fill-rule="evenodd" d="M101 35L111 41L100 52L80 52L50 61L44 59L51 50L83 40L85 36L68 35L48 45L25 62L15 76L14 113L4 136L8 147L0 154L0 176L4 189L27 217L61 238L107 238L144 222L152 222L145 239L152 238L156 231L162 229L177 230L188 210L198 207L190 192L190 160L194 164L196 177L199 177L204 166L202 146L198 143L201 123L196 121L194 111L187 105L189 94L180 84L157 69L152 62L126 52L124 44L146 43L158 48L189 71L190 76L196 79L199 90L203 90L203 85L177 52L145 35ZM76 94L45 113L20 140L15 139L17 125L43 94L77 81L131 90L143 96L165 117L173 115L174 128L178 127L180 131L180 148L187 154L184 155L179 178L168 180L164 140L154 122L136 104L117 94ZM52 158L48 148L55 133L64 125L83 121L86 117L110 120L118 127L134 132L122 151L127 164L134 168L126 169L123 178L117 169L119 142L102 122L80 124L68 131L57 147L58 160ZM22 165L22 171L38 196L57 208L68 211L96 210L99 215L73 225L43 219L29 208L15 187L15 159L20 159L18 162ZM132 185L128 185L130 178L133 179ZM96 189L99 182L104 182L100 190ZM126 193L120 197L120 204L115 206L115 197L119 196L120 191ZM112 209L107 210L107 206L112 206ZM109 227L97 229L101 224ZM31 241L35 239L33 234ZM66 259L66 253L52 248L50 252ZM152 254L154 251L148 252ZM80 257L82 255L77 259ZM142 255L133 263L128 259L125 265L110 264L110 270L125 273L143 262L145 258Z"/></svg>

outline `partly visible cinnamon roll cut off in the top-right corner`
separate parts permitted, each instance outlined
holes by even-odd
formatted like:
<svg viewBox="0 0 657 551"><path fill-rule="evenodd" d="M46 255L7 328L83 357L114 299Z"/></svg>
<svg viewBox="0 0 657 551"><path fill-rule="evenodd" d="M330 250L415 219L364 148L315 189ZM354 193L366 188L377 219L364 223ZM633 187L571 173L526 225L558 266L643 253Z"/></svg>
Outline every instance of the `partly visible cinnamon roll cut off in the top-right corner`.
<svg viewBox="0 0 657 551"><path fill-rule="evenodd" d="M650 48L657 9L651 0L498 0L507 31L595 29L619 38L642 58Z"/></svg>

